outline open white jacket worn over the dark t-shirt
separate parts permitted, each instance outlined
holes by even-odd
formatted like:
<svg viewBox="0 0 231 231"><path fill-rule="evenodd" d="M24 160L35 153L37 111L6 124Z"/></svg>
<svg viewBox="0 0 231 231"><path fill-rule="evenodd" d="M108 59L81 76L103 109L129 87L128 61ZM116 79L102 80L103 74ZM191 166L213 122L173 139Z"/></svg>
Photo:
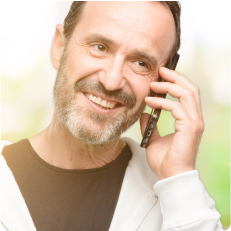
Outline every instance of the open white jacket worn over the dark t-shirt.
<svg viewBox="0 0 231 231"><path fill-rule="evenodd" d="M132 151L110 231L221 231L220 214L198 171L158 181L145 150L123 138ZM2 142L2 148L10 144ZM1 159L1 230L35 231L18 185Z"/></svg>

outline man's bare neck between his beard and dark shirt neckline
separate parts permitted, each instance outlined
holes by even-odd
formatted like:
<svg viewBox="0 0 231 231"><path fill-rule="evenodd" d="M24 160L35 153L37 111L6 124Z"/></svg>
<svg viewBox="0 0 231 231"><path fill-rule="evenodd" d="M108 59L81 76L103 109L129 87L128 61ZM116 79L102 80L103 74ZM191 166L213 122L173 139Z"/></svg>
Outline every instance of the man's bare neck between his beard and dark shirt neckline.
<svg viewBox="0 0 231 231"><path fill-rule="evenodd" d="M102 167L114 160L125 145L120 137L107 145L87 145L70 134L55 114L51 124L29 140L43 160L64 169Z"/></svg>

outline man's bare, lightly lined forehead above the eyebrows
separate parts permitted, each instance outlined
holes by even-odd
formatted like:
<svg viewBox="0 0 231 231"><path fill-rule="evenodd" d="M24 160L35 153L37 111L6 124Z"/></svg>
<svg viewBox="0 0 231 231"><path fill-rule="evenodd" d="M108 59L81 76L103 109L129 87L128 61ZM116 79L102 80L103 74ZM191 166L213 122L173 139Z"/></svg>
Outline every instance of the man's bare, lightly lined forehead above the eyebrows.
<svg viewBox="0 0 231 231"><path fill-rule="evenodd" d="M87 2L77 33L101 33L124 47L155 46L159 54L175 41L175 24L168 6L160 2Z"/></svg>

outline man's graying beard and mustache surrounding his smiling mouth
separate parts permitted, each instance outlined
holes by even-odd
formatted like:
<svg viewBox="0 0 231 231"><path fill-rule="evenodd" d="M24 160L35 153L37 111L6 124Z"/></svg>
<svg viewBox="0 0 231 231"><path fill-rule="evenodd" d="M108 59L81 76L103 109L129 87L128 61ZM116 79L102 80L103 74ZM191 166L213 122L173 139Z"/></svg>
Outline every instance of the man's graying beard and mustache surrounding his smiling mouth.
<svg viewBox="0 0 231 231"><path fill-rule="evenodd" d="M67 85L66 75L66 51L60 63L57 78L54 86L54 105L59 123L76 138L87 145L105 145L118 138L124 131L132 126L142 115L145 109L143 102L141 107L128 118L128 112L135 106L136 98L132 94L116 90L107 91L99 82L91 82L87 78L82 78L75 83L75 86ZM113 115L99 115L86 108L77 105L78 92L94 91L104 93L104 95L114 96L115 100L121 100L126 105L126 110L117 117ZM84 119L89 118L89 124L84 124ZM101 129L97 132L91 130L91 123L97 123Z"/></svg>

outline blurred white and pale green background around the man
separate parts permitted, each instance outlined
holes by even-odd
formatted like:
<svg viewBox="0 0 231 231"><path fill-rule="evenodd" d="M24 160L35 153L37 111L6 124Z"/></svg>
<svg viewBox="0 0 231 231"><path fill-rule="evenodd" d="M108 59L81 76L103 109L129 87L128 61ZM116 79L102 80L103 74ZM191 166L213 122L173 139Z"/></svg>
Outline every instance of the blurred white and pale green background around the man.
<svg viewBox="0 0 231 231"><path fill-rule="evenodd" d="M1 139L16 142L48 126L56 71L49 60L55 25L71 2L4 2L1 13ZM177 71L201 89L205 132L196 168L230 226L230 17L229 1L181 1L182 46ZM10 12L10 13L9 13ZM14 15L14 17L12 17ZM146 111L150 111L149 108ZM174 132L162 111L161 135ZM139 123L123 136L141 141Z"/></svg>

